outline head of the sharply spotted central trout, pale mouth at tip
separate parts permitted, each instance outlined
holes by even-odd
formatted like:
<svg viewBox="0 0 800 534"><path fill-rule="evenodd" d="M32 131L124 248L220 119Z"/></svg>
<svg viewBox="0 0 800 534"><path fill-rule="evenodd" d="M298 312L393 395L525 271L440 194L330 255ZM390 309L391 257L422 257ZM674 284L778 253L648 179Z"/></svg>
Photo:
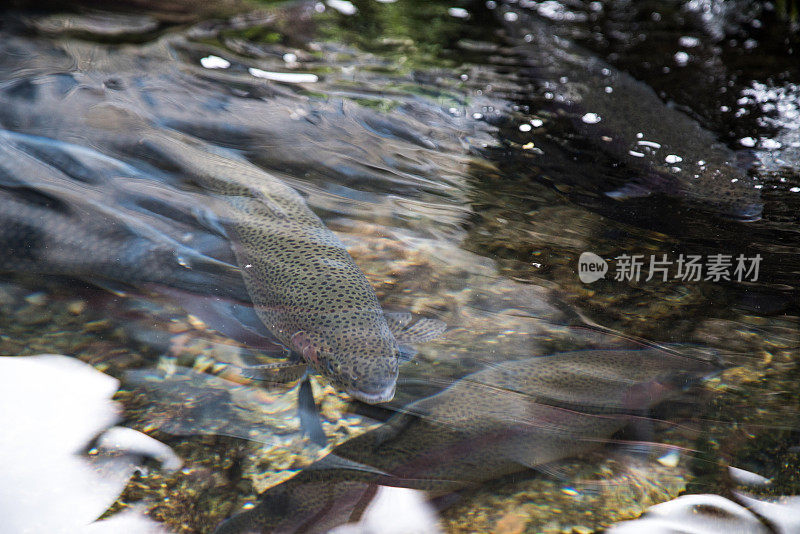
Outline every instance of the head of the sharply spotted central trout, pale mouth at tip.
<svg viewBox="0 0 800 534"><path fill-rule="evenodd" d="M352 397L375 404L394 398L400 348L388 326L302 330L292 349L317 373ZM383 326L383 328L381 328Z"/></svg>

